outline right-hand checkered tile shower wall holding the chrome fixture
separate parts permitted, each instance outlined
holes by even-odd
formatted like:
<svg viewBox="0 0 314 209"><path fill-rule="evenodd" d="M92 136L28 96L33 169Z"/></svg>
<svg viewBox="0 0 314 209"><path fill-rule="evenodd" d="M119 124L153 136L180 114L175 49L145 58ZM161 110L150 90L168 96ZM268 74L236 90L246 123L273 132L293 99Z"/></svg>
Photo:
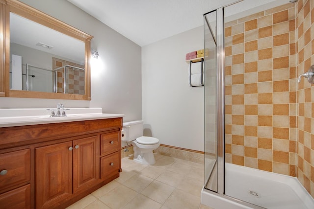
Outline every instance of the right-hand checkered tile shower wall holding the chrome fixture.
<svg viewBox="0 0 314 209"><path fill-rule="evenodd" d="M314 0L299 0L296 17L297 75L314 64ZM314 197L314 85L306 78L297 88L297 177Z"/></svg>

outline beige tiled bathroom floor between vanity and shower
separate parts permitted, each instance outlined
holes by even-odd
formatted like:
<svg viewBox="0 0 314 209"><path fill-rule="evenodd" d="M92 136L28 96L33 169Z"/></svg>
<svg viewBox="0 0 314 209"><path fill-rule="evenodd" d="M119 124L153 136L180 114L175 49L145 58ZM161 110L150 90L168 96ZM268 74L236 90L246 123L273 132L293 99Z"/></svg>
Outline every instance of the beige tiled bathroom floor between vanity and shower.
<svg viewBox="0 0 314 209"><path fill-rule="evenodd" d="M122 159L120 177L67 209L210 209L201 204L204 164L155 154L154 165Z"/></svg>

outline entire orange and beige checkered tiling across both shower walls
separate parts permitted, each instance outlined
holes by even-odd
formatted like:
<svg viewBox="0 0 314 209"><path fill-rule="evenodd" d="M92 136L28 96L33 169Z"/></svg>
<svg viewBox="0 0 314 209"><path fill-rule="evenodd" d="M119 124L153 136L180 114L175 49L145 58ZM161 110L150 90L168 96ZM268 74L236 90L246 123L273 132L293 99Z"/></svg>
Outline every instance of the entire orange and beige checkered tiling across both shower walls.
<svg viewBox="0 0 314 209"><path fill-rule="evenodd" d="M296 79L314 64L313 7L299 0L225 24L226 162L297 176L312 196L314 88Z"/></svg>

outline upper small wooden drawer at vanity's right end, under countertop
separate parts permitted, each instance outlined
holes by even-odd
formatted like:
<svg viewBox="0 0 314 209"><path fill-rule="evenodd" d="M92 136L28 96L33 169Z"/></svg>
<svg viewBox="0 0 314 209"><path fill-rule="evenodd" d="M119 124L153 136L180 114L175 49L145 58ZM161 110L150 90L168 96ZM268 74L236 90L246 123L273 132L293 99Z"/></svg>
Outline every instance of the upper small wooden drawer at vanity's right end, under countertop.
<svg viewBox="0 0 314 209"><path fill-rule="evenodd" d="M100 155L107 155L119 151L120 131L110 132L101 135Z"/></svg>

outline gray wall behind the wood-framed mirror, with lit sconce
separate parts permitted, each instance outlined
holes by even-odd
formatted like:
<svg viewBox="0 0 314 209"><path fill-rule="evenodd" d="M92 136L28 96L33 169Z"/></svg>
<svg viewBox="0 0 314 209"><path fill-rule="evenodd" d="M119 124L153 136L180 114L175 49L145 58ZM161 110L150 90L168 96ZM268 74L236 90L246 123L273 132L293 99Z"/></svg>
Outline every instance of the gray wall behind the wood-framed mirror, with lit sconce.
<svg viewBox="0 0 314 209"><path fill-rule="evenodd" d="M104 113L125 114L125 121L142 118L141 47L67 0L21 0L92 36L100 56L91 69L91 101L0 97L0 108L102 107Z"/></svg>

